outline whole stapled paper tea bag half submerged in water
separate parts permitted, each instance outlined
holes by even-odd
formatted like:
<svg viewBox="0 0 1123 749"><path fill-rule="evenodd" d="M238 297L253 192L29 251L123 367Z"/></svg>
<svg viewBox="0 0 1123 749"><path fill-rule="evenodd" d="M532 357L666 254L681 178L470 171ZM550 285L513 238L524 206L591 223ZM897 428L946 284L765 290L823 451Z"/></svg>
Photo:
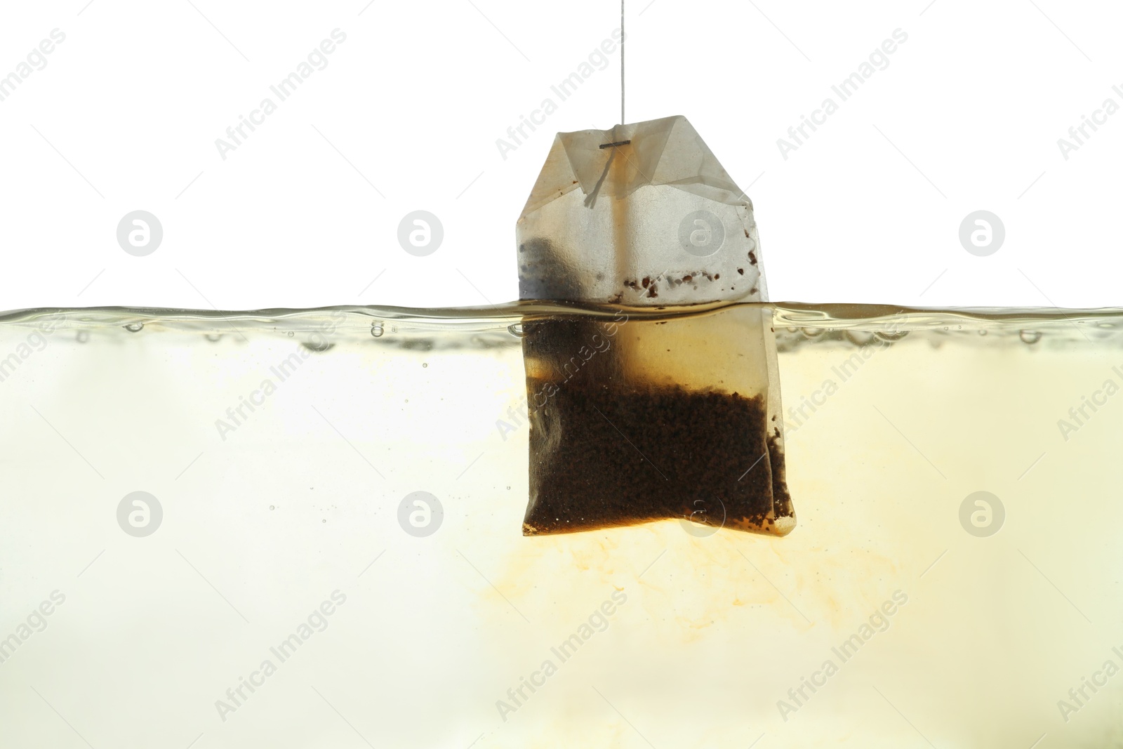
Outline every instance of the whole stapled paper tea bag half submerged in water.
<svg viewBox="0 0 1123 749"><path fill-rule="evenodd" d="M523 320L523 533L788 533L752 204L690 122L558 134L515 234L521 299L594 305Z"/></svg>

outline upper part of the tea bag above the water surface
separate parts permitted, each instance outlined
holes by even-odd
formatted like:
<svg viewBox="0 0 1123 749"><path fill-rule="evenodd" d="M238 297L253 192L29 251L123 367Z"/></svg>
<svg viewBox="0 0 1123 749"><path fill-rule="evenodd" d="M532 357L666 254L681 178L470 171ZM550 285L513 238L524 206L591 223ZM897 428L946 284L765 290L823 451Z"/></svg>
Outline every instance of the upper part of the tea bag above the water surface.
<svg viewBox="0 0 1123 749"><path fill-rule="evenodd" d="M767 299L752 203L685 117L559 133L515 236L521 299Z"/></svg>

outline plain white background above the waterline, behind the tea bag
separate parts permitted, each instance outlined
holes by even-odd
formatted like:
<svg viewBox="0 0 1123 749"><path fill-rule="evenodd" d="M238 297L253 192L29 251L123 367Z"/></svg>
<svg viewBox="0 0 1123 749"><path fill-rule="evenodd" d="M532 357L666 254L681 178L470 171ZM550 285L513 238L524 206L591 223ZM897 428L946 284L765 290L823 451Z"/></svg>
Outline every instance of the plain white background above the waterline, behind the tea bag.
<svg viewBox="0 0 1123 749"><path fill-rule="evenodd" d="M633 0L628 119L685 115L748 188L773 300L1114 305L1123 112L1068 159L1057 141L1123 104L1121 15ZM510 301L553 134L618 121L619 53L508 158L495 141L618 26L603 0L4 3L0 75L66 38L0 101L0 308ZM336 28L328 66L223 161L214 140ZM888 67L785 159L777 138L897 28ZM146 257L116 239L137 209L164 228ZM417 209L444 223L428 257L396 239ZM979 209L1006 230L988 257L958 238Z"/></svg>

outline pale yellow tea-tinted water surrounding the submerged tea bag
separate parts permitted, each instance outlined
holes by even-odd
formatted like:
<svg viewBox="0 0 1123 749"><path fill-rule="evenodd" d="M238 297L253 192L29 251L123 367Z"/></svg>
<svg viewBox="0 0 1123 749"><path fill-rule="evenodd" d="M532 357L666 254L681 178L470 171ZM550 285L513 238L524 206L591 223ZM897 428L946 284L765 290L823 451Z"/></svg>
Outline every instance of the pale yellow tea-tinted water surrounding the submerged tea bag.
<svg viewBox="0 0 1123 749"><path fill-rule="evenodd" d="M6 742L1123 746L1123 311L775 305L789 536L526 538L562 311L0 319Z"/></svg>

